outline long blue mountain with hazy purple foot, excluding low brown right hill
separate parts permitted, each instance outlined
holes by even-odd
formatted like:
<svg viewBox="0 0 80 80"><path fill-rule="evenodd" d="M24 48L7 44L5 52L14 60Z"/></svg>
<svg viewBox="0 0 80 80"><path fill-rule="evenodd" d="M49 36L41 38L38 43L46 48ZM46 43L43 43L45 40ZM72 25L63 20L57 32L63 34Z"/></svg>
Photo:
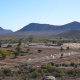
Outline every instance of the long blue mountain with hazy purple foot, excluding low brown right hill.
<svg viewBox="0 0 80 80"><path fill-rule="evenodd" d="M70 30L80 30L80 23L76 21L65 25L30 23L29 25L26 25L22 29L16 31L15 34L27 36L52 36Z"/></svg>

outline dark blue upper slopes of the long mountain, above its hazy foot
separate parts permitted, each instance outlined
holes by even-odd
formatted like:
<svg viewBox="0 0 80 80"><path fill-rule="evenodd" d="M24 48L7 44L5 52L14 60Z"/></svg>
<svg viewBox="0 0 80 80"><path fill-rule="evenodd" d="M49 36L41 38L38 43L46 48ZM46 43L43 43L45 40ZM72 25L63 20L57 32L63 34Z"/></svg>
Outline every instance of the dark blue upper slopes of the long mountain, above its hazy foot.
<svg viewBox="0 0 80 80"><path fill-rule="evenodd" d="M69 31L69 30L80 30L79 22L72 22L65 25L50 25L50 24L39 24L31 23L27 26L24 26L22 29L17 32L26 32L26 31Z"/></svg>

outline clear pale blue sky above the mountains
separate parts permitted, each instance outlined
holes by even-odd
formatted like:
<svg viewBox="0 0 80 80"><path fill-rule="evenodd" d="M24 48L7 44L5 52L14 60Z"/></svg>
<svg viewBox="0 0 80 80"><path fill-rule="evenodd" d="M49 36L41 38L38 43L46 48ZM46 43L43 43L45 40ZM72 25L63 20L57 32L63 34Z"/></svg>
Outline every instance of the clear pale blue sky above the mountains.
<svg viewBox="0 0 80 80"><path fill-rule="evenodd" d="M30 23L80 22L80 0L0 0L0 27L17 31Z"/></svg>

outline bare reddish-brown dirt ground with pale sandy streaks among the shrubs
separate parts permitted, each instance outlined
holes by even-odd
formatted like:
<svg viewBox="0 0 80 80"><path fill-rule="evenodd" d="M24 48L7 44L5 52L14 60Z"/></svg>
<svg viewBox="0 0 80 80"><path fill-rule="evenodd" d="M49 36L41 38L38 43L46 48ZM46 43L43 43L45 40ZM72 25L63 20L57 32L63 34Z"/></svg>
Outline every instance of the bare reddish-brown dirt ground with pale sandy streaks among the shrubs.
<svg viewBox="0 0 80 80"><path fill-rule="evenodd" d="M66 47L69 46L70 50L66 50ZM61 46L30 46L28 48L25 48L22 46L22 51L26 51L27 49L30 49L29 52L33 53L31 55L25 55L25 56L18 56L17 58L13 58L13 56L7 56L6 59L0 60L0 68L11 68L13 71L16 70L16 65L21 64L29 64L33 65L35 67L39 67L40 65L44 63L54 62L54 63L80 63L80 44L78 43L64 43L62 47L64 48L63 51L60 50ZM5 48L6 50L15 50L15 48ZM38 52L38 50L42 50L42 52ZM63 57L61 58L61 54L63 53ZM24 53L23 53L24 54ZM62 67L60 67L61 69ZM62 68L64 70L71 69L68 68ZM16 77L15 77L16 79ZM5 79L3 79L5 80ZM9 80L9 79L6 79ZM14 80L11 79L11 80ZM17 79L18 80L18 79ZM20 80L20 79L19 79ZM59 79L58 79L59 80ZM68 79L69 80L69 79ZM74 80L74 79L71 79ZM75 79L75 80L80 80Z"/></svg>

